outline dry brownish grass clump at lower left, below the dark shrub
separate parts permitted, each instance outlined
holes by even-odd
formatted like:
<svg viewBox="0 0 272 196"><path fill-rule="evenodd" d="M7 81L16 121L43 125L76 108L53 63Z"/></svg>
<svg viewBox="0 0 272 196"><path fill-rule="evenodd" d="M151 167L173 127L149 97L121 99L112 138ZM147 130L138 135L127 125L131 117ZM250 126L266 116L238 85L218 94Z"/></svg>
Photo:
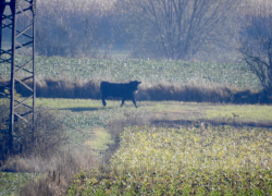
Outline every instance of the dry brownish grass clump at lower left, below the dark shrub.
<svg viewBox="0 0 272 196"><path fill-rule="evenodd" d="M48 160L47 160L48 159ZM96 158L89 150L54 151L48 158L30 157L9 160L16 166L26 166L29 171L44 172L45 175L27 183L20 195L65 195L75 174L82 170L97 167ZM32 168L30 168L32 167ZM20 170L22 171L22 170Z"/></svg>

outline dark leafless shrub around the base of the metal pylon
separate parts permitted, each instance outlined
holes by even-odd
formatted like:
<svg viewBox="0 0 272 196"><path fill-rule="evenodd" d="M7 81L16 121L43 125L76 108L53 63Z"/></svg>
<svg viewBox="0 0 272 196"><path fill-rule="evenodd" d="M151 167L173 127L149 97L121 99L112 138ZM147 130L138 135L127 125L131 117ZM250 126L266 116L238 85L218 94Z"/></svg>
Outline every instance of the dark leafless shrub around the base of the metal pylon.
<svg viewBox="0 0 272 196"><path fill-rule="evenodd" d="M0 143L1 160L9 157L7 146L9 132L9 101L0 105ZM62 121L57 118L52 111L42 108L36 108L35 132L33 134L32 125L16 118L13 132L13 155L42 154L46 156L52 150L58 149L65 142ZM34 140L33 140L34 139Z"/></svg>

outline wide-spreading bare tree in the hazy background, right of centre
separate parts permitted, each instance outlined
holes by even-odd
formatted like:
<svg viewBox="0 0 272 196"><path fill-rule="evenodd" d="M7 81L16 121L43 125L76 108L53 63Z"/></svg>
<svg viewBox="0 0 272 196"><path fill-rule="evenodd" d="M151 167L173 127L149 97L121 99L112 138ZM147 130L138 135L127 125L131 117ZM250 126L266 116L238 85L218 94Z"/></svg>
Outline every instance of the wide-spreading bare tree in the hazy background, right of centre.
<svg viewBox="0 0 272 196"><path fill-rule="evenodd" d="M222 28L235 0L119 0L128 33L140 50L171 59L189 59L223 41Z"/></svg>

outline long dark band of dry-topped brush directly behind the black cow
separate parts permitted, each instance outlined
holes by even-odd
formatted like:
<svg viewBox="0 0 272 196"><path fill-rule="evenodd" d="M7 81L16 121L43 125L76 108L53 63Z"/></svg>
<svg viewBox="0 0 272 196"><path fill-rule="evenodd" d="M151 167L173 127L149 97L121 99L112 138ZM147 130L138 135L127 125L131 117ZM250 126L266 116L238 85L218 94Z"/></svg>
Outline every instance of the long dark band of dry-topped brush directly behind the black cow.
<svg viewBox="0 0 272 196"><path fill-rule="evenodd" d="M101 79L87 82L73 82L69 79L42 78L36 83L36 96L42 98L79 98L100 99ZM32 86L32 82L26 82ZM7 85L7 81L0 81L0 85ZM29 90L23 85L16 85L16 91L22 96L28 96ZM197 102L232 102L232 103L270 103L271 95L263 91L238 89L220 84L193 81L184 83L141 83L136 94L137 100L176 100Z"/></svg>

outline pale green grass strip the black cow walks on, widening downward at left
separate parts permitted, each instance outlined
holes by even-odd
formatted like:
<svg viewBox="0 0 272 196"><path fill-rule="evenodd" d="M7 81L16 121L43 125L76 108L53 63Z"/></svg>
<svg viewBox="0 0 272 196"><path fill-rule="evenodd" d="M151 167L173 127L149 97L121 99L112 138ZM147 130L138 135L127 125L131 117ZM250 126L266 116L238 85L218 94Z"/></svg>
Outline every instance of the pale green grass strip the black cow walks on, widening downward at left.
<svg viewBox="0 0 272 196"><path fill-rule="evenodd" d="M207 102L132 101L121 108L121 101L92 99L37 99L37 110L50 110L62 119L70 145L83 144L104 151L108 143L107 125L129 119L139 125L199 126L202 122L214 125L272 127L271 106L267 105L212 105ZM129 123L128 123L129 124ZM90 139L90 140L89 140ZM99 143L101 142L101 144ZM94 145L96 144L96 145Z"/></svg>

